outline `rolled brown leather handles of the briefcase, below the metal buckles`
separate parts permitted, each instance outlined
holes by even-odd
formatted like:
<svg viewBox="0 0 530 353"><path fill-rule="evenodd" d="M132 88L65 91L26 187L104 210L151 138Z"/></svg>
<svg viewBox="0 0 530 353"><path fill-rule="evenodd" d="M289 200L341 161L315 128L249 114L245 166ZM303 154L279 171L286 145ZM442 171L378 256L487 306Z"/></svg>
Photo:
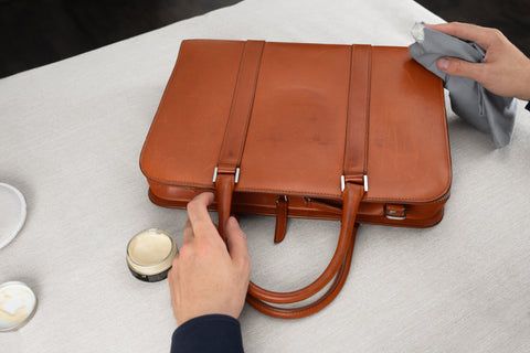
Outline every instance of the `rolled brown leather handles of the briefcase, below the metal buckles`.
<svg viewBox="0 0 530 353"><path fill-rule="evenodd" d="M232 203L232 193L234 190L234 179L230 174L218 175L216 191L218 191L218 212L220 234L224 238L224 225L230 216L230 207ZM331 258L330 264L326 270L309 286L299 290L290 292L275 292L263 289L252 281L248 286L247 301L257 310L277 318L295 319L307 317L321 308L326 307L340 291L346 276L349 270L351 258L348 259L348 254L353 250L354 236L357 233L356 216L359 210L359 204L364 194L363 185L356 183L347 183L342 192L342 223L340 229L339 242L337 249ZM351 256L350 256L351 257ZM275 308L266 304L263 301L272 303L294 303L308 299L319 292L328 285L333 277L336 278L333 285L330 287L321 299L316 302L301 307L298 309Z"/></svg>

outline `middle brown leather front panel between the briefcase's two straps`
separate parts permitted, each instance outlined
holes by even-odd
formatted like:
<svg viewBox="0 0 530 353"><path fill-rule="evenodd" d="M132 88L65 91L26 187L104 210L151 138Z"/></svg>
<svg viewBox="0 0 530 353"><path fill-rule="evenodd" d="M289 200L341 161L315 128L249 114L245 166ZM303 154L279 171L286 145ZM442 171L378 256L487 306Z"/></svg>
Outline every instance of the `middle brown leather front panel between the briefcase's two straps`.
<svg viewBox="0 0 530 353"><path fill-rule="evenodd" d="M237 191L340 197L349 68L350 46L265 44Z"/></svg>

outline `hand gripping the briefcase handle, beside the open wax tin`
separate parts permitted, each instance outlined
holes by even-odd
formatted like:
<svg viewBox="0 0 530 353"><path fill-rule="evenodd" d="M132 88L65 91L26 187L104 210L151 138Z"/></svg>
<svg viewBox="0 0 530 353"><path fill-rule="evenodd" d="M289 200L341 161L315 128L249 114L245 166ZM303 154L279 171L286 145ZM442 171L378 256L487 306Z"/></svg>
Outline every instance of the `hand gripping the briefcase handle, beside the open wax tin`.
<svg viewBox="0 0 530 353"><path fill-rule="evenodd" d="M182 247L168 274L178 324L213 313L237 319L245 303L251 274L246 236L230 217L226 248L206 210L212 201L212 193L203 193L188 204Z"/></svg>

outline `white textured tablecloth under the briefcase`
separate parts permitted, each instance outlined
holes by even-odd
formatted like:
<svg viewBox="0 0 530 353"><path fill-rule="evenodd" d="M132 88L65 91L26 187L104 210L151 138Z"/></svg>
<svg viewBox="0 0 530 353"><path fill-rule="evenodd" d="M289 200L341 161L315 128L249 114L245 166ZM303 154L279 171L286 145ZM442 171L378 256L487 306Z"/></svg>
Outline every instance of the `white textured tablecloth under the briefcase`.
<svg viewBox="0 0 530 353"><path fill-rule="evenodd" d="M167 281L128 272L129 238L157 226L182 242L183 211L152 205L139 152L183 39L409 45L413 1L245 0L0 81L0 182L19 188L28 221L0 249L0 282L21 280L34 318L0 333L0 352L168 352L176 328ZM9 55L9 53L4 53ZM442 223L362 226L339 297L301 320L246 306L247 352L529 352L530 114L513 141L448 115L454 181ZM1 216L1 215L0 215ZM252 278L294 289L328 264L338 222L244 217Z"/></svg>

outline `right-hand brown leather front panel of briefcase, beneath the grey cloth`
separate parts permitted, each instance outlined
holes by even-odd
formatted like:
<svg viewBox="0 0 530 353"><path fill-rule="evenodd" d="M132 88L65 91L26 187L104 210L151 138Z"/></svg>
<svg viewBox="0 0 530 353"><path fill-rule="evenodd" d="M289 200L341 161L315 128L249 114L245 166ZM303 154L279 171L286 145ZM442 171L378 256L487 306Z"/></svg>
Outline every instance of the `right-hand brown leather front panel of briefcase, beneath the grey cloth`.
<svg viewBox="0 0 530 353"><path fill-rule="evenodd" d="M430 203L452 182L442 81L402 47L373 47L365 200Z"/></svg>

